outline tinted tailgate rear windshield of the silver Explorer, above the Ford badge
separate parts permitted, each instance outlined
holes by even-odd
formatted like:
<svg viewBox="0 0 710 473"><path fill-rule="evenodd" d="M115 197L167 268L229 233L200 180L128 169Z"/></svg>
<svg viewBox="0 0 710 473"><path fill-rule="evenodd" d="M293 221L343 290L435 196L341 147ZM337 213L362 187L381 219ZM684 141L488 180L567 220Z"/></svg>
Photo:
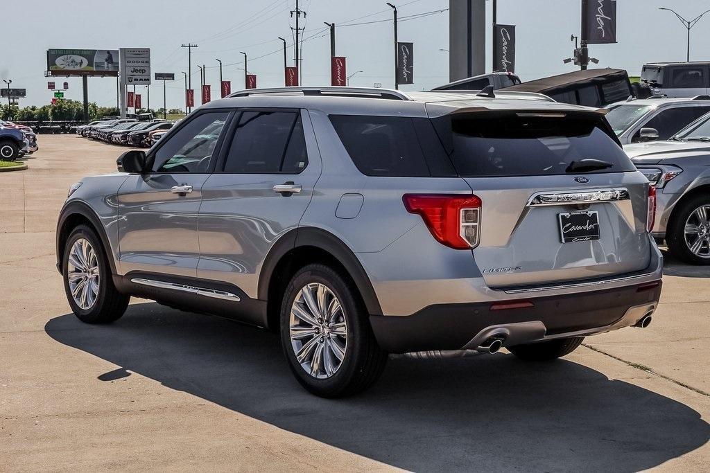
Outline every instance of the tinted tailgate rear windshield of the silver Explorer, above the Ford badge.
<svg viewBox="0 0 710 473"><path fill-rule="evenodd" d="M464 177L566 174L573 161L611 162L598 172L635 168L597 121L585 118L469 116L437 119L437 130ZM596 172L596 171L595 171Z"/></svg>

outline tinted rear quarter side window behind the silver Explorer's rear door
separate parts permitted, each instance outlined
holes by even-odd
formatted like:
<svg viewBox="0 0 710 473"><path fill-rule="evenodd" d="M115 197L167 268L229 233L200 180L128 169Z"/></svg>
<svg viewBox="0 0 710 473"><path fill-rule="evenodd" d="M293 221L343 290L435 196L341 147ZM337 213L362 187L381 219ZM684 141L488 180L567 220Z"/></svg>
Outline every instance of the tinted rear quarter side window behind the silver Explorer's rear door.
<svg viewBox="0 0 710 473"><path fill-rule="evenodd" d="M334 115L330 121L363 174L430 176L412 118Z"/></svg>

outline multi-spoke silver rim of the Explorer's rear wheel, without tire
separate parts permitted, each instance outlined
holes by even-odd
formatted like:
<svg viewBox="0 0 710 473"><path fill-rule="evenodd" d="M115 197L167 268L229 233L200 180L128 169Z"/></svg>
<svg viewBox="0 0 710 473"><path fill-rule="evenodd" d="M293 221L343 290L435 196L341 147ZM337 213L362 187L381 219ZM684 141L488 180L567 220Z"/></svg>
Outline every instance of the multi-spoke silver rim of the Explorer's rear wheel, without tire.
<svg viewBox="0 0 710 473"><path fill-rule="evenodd" d="M298 291L291 306L289 335L297 362L312 377L332 377L342 366L347 323L340 301L325 284L306 284Z"/></svg>

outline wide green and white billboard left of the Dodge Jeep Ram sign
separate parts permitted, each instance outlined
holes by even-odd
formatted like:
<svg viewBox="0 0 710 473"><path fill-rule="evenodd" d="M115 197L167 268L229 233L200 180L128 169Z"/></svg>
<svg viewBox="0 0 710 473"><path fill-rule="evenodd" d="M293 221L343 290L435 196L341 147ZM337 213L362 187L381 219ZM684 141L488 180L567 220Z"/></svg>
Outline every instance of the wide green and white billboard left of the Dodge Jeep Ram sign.
<svg viewBox="0 0 710 473"><path fill-rule="evenodd" d="M48 49L50 76L119 75L119 52L105 49Z"/></svg>

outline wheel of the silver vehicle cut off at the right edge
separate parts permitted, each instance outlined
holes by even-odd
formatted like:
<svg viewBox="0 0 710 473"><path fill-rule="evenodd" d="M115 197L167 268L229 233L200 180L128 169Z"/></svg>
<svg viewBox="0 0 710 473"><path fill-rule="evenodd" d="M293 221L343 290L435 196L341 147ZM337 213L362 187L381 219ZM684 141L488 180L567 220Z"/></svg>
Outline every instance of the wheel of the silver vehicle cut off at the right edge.
<svg viewBox="0 0 710 473"><path fill-rule="evenodd" d="M668 249L691 265L710 265L710 198L696 196L678 206L666 234Z"/></svg>

